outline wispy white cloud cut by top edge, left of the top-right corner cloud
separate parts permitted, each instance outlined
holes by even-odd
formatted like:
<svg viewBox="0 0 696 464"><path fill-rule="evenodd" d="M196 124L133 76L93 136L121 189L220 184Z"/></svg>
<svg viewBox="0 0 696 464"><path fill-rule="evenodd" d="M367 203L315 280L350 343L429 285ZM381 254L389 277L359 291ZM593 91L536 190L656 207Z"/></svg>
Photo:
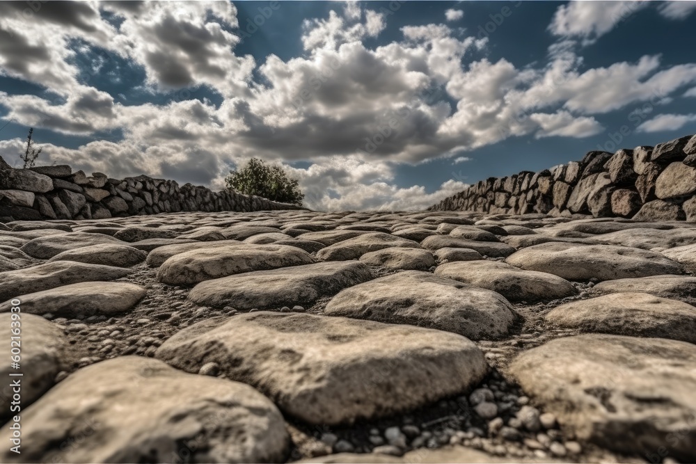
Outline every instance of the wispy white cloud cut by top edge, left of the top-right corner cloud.
<svg viewBox="0 0 696 464"><path fill-rule="evenodd" d="M574 0L557 8L548 29L554 35L576 37L592 43L633 13L647 8L648 1Z"/></svg>

